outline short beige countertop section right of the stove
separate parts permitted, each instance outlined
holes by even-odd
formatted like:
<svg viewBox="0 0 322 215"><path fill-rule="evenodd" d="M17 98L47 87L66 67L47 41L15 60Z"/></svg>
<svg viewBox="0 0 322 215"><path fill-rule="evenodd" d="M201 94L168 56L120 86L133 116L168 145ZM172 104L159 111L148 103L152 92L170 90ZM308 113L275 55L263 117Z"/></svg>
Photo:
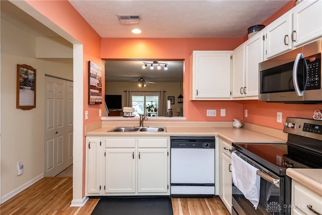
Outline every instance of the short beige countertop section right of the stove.
<svg viewBox="0 0 322 215"><path fill-rule="evenodd" d="M322 169L288 168L286 175L308 189L322 195Z"/></svg>

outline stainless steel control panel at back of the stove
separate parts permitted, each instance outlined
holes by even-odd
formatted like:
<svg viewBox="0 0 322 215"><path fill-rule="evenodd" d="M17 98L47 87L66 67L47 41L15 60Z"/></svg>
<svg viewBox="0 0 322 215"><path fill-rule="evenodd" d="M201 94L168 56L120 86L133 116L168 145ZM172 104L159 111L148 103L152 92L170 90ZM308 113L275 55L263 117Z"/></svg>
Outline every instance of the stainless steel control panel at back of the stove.
<svg viewBox="0 0 322 215"><path fill-rule="evenodd" d="M287 117L283 131L322 140L322 120Z"/></svg>

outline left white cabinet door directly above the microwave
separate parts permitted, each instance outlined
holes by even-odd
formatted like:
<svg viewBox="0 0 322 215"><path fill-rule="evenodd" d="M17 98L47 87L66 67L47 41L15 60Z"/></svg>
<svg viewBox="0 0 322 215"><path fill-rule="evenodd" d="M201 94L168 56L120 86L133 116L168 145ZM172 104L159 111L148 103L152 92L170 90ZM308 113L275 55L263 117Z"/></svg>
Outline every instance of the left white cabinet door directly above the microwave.
<svg viewBox="0 0 322 215"><path fill-rule="evenodd" d="M292 13L281 16L265 30L265 59L292 49Z"/></svg>

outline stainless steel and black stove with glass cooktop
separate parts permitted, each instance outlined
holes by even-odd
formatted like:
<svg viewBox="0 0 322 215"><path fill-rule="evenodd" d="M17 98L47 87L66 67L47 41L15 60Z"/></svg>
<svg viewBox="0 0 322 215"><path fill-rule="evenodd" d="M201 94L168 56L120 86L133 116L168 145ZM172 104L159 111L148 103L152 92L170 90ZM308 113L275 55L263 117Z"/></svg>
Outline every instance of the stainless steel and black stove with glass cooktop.
<svg viewBox="0 0 322 215"><path fill-rule="evenodd" d="M233 214L290 214L291 178L287 168L322 168L322 121L288 117L287 142L233 142L233 153L255 166L261 177L257 209L237 187L232 189Z"/></svg>

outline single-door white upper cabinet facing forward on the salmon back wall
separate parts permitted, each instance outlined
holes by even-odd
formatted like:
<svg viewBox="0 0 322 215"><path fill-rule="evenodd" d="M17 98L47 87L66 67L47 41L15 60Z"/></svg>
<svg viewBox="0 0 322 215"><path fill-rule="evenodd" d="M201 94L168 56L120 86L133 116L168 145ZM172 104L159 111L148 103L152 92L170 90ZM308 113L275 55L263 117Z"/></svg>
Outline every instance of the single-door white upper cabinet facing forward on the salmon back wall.
<svg viewBox="0 0 322 215"><path fill-rule="evenodd" d="M231 51L193 51L190 56L191 100L230 99Z"/></svg>

